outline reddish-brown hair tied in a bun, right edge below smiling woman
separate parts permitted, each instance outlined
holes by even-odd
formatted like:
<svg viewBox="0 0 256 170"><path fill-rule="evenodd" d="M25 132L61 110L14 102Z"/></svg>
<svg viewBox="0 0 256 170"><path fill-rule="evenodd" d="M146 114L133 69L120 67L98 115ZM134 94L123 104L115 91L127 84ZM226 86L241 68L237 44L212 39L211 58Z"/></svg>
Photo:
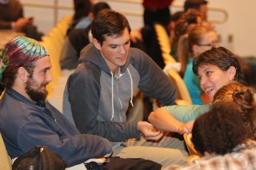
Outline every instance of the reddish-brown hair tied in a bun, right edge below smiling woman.
<svg viewBox="0 0 256 170"><path fill-rule="evenodd" d="M213 101L214 105L222 101L234 102L248 127L250 138L256 140L256 104L252 89L240 83L230 83L218 89Z"/></svg>

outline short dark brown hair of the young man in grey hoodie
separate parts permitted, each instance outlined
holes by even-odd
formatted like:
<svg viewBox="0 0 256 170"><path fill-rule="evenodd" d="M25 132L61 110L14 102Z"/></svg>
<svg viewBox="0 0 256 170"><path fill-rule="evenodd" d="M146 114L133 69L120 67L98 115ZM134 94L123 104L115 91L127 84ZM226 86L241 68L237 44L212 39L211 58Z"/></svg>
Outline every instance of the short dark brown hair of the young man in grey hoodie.
<svg viewBox="0 0 256 170"><path fill-rule="evenodd" d="M101 45L106 36L118 37L126 28L130 34L130 25L126 17L114 10L103 10L91 23L91 33Z"/></svg>

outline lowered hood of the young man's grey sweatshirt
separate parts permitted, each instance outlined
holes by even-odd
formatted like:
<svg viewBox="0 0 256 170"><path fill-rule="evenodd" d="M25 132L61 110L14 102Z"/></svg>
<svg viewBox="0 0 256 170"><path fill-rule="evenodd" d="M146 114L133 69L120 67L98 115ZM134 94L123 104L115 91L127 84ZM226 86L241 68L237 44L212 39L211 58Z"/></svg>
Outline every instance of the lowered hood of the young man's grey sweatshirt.
<svg viewBox="0 0 256 170"><path fill-rule="evenodd" d="M89 45L86 45L81 51L80 57L79 57L79 64L83 61L89 61L91 63L94 63L94 65L97 65L99 68L101 68L105 73L111 76L110 69L108 65L106 64L106 61L102 57L102 54L100 51L94 46L93 43L90 43ZM130 64L130 51L126 58L126 64L120 67L120 73L125 73L126 69L128 68L128 65Z"/></svg>

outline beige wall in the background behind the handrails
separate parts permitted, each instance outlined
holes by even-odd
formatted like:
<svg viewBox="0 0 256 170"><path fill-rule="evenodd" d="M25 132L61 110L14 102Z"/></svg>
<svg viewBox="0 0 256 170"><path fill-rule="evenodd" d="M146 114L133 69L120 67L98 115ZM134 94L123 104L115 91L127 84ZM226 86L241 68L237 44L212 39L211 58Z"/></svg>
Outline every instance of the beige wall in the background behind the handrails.
<svg viewBox="0 0 256 170"><path fill-rule="evenodd" d="M73 14L72 3L73 0L21 0L22 3L41 3L46 6L54 5L54 2L58 2L59 6L70 8L70 10L58 10L59 21L64 14ZM98 2L98 1L95 1ZM141 0L108 0L112 9L118 10L123 14L126 14L130 25L133 29L142 26L142 6ZM174 6L171 10L182 10L184 0L175 0ZM222 45L227 44L227 38L229 35L233 36L234 43L232 50L241 56L256 56L256 1L255 0L209 0L210 8L221 8L226 10L228 19L225 23L215 23L216 30L222 38ZM25 6L26 17L34 16L34 22L38 26L38 30L42 30L45 34L54 26L54 10L50 8L39 8ZM216 11L209 12L209 19L221 19L222 13ZM226 45L227 47L230 47Z"/></svg>

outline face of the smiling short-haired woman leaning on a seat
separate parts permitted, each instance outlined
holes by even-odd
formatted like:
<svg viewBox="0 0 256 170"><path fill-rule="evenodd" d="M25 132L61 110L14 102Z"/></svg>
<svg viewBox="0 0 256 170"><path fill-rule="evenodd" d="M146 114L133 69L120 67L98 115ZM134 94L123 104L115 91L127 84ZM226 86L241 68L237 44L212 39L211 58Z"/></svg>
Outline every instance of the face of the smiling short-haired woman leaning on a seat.
<svg viewBox="0 0 256 170"><path fill-rule="evenodd" d="M230 67L230 69L232 68ZM215 65L202 65L198 67L200 86L210 98L210 101L213 100L214 94L218 89L234 81L234 73L230 73L230 69L223 71Z"/></svg>

